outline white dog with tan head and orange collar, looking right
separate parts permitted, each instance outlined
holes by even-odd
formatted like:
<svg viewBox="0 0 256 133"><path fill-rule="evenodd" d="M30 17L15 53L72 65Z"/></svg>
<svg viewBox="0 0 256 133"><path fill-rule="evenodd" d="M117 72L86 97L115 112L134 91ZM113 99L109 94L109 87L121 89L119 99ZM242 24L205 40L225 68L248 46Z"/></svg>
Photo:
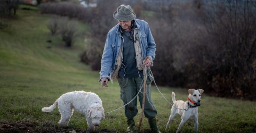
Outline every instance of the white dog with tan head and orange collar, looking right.
<svg viewBox="0 0 256 133"><path fill-rule="evenodd" d="M203 94L203 89L189 89L188 90L188 101L176 101L175 93L172 92L172 102L174 103L171 109L171 115L169 121L166 124L165 130L169 126L171 120L174 119L175 115L178 113L181 115L181 122L179 128L176 132L180 132L181 127L188 119L194 120L195 132L198 131L198 109L197 106L200 106L201 95Z"/></svg>

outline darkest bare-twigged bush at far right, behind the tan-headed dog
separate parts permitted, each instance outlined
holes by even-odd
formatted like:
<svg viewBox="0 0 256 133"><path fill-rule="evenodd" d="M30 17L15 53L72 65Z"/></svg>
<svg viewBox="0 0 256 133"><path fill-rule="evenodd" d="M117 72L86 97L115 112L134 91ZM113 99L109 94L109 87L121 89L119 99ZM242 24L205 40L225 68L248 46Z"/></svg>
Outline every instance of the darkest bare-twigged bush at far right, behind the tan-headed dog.
<svg viewBox="0 0 256 133"><path fill-rule="evenodd" d="M207 30L187 50L193 60L186 68L187 76L193 76L190 82L214 96L255 99L255 10L250 1L210 3L205 9Z"/></svg>

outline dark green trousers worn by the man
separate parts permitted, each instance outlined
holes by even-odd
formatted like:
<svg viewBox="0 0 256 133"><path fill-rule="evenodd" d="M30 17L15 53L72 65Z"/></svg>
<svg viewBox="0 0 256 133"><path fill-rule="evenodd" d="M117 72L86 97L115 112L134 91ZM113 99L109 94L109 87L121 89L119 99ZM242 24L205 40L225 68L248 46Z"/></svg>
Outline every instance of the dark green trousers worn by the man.
<svg viewBox="0 0 256 133"><path fill-rule="evenodd" d="M138 97L140 106L142 107L142 99L143 99L143 77L138 78L118 78L119 86L121 87L120 90L120 97L123 101L123 105L129 103L140 91ZM144 106L144 115L148 119L155 118L157 115L156 108L151 100L151 78L147 78L147 89L146 89L146 96L145 96L145 106ZM127 119L132 119L138 113L137 109L137 97L133 99L133 101L124 107L125 116Z"/></svg>

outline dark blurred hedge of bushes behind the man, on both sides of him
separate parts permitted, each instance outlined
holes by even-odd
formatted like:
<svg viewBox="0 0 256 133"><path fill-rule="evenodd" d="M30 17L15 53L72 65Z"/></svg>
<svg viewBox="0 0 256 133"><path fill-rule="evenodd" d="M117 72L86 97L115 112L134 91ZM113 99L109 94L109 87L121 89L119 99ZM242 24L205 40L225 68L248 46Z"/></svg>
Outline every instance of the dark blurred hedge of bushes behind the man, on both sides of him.
<svg viewBox="0 0 256 133"><path fill-rule="evenodd" d="M150 25L157 44L153 71L159 85L199 87L213 96L255 99L254 1L110 0L86 10L76 4L45 3L41 12L90 23L91 39L81 60L100 70L106 34L117 23L111 16L122 3L132 5L137 18Z"/></svg>

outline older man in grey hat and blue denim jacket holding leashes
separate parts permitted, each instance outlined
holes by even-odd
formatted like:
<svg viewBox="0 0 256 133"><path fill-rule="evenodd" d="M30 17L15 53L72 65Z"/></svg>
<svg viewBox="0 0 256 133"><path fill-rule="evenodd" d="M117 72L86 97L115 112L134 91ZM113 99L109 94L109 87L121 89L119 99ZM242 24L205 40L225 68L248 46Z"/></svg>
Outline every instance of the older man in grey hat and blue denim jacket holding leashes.
<svg viewBox="0 0 256 133"><path fill-rule="evenodd" d="M130 5L121 5L113 14L118 24L109 30L101 60L100 82L106 86L108 81L117 78L121 87L123 104L129 103L139 93L143 85L143 66L153 65L156 44L148 23L135 19L136 15ZM142 61L143 60L143 61ZM160 132L156 124L157 111L151 101L151 82L153 78L147 71L147 90L144 114L148 118L150 129ZM143 92L143 88L141 90ZM139 93L142 105L143 94ZM137 98L125 106L127 132L134 132L134 117L138 113Z"/></svg>

